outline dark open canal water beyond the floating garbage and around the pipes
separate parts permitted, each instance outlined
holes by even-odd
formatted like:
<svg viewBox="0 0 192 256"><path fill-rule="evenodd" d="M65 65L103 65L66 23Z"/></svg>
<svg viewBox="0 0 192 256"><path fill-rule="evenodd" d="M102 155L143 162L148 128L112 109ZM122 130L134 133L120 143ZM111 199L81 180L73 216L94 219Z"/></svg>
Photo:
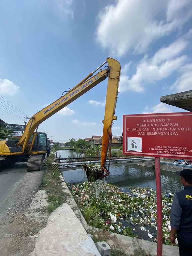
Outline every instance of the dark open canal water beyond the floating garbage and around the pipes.
<svg viewBox="0 0 192 256"><path fill-rule="evenodd" d="M60 152L63 158L77 156L74 150L62 150ZM110 173L109 177L105 178L106 182L123 188L124 192L129 191L128 187L150 187L156 190L155 170L152 168L126 163L110 166ZM63 177L68 183L87 181L87 176L82 169L65 171ZM161 185L162 193L175 193L183 189L180 176L168 171L161 171Z"/></svg>

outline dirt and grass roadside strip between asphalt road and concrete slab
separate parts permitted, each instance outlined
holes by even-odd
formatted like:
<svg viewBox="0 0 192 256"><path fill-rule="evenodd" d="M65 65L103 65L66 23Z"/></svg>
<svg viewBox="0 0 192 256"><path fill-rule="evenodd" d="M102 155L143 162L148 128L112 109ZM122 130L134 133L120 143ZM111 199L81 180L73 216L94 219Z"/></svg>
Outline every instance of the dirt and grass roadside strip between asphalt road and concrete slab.
<svg viewBox="0 0 192 256"><path fill-rule="evenodd" d="M53 175L50 170L52 161L51 155L45 162L46 173L42 184L28 202L28 207L0 222L1 256L28 256L34 250L35 239L38 232L46 226L49 214L66 201L66 195L60 186L59 172Z"/></svg>

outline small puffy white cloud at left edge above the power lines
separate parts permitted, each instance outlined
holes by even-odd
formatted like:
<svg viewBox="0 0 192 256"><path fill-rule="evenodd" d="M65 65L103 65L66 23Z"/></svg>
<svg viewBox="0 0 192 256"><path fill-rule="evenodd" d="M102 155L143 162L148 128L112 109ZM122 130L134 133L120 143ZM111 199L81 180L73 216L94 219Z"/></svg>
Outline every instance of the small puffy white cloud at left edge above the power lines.
<svg viewBox="0 0 192 256"><path fill-rule="evenodd" d="M8 79L0 79L0 93L13 96L19 90L19 87Z"/></svg>

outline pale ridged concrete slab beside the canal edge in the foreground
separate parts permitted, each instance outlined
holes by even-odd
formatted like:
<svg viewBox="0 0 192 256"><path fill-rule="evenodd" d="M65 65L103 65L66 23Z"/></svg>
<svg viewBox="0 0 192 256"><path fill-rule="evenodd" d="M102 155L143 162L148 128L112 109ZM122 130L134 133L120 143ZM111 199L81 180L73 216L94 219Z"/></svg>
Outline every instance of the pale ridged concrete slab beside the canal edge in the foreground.
<svg viewBox="0 0 192 256"><path fill-rule="evenodd" d="M58 207L40 231L30 256L91 256L79 248L87 233L68 204Z"/></svg>

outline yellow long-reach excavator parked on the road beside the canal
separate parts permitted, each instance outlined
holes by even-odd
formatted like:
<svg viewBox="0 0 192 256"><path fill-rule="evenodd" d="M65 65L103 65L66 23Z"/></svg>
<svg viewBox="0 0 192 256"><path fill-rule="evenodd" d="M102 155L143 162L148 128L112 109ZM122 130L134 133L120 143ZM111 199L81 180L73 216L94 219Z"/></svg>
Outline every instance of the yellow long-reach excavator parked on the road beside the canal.
<svg viewBox="0 0 192 256"><path fill-rule="evenodd" d="M108 66L104 66L106 63L108 63ZM102 66L104 67L101 69ZM94 75L98 70L99 72ZM108 176L110 172L105 167L105 162L108 148L109 157L111 156L111 127L114 120L117 119L115 116L115 107L119 93L120 74L120 63L115 59L107 58L102 65L88 74L88 76L75 87L69 89L66 93L63 92L65 94L63 95L62 93L58 100L33 115L19 141L0 141L0 166L11 162L27 162L27 171L40 170L47 151L47 135L46 133L37 132L39 124L108 77L105 116L104 120L102 120L103 140L101 148L101 172L98 178L102 179L103 177Z"/></svg>

